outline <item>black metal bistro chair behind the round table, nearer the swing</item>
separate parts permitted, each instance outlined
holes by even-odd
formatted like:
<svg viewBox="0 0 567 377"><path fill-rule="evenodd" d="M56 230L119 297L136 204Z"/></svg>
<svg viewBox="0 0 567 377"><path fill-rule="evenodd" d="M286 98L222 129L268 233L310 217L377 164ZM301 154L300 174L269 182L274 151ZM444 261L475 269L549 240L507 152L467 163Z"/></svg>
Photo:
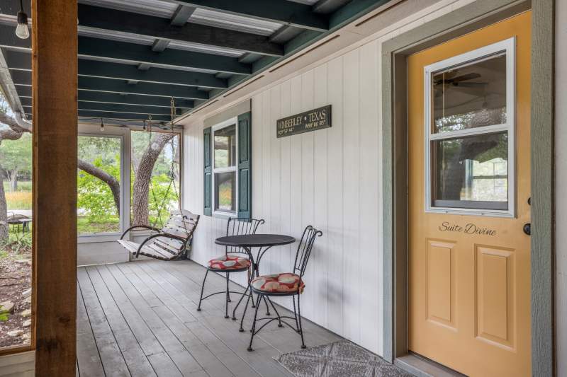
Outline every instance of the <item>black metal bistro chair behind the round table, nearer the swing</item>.
<svg viewBox="0 0 567 377"><path fill-rule="evenodd" d="M242 236L245 234L256 233L258 226L264 224L263 219L241 219L241 218L230 218L226 225L226 235L227 236ZM240 254L240 255L239 255ZM243 256L246 255L246 256ZM225 318L228 317L228 303L230 303L230 294L240 294L241 292L230 291L228 289L228 277L234 272L248 272L248 283L252 279L252 271L250 271L251 263L248 258L248 254L235 246L225 246L225 255L220 257L215 257L208 261L207 272L205 272L205 277L203 278L203 285L201 285L201 298L199 298L199 306L197 311L201 311L201 302L210 296L215 294L226 294L225 303ZM218 291L213 294L208 294L203 297L203 291L205 290L205 282L207 280L208 272L218 272L220 274L226 274L226 290ZM242 300L242 298L241 298ZM236 309L236 308L235 308ZM234 313L232 313L234 317Z"/></svg>

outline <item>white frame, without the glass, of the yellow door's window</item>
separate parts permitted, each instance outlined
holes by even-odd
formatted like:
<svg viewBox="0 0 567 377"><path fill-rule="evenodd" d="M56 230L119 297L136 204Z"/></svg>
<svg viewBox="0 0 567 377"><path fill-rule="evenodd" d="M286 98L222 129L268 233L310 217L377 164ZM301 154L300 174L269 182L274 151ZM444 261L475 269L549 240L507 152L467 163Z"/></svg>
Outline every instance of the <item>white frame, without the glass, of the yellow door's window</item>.
<svg viewBox="0 0 567 377"><path fill-rule="evenodd" d="M478 48L464 54L456 55L449 59L425 66L425 211L446 214L466 214L474 216L514 217L516 209L516 138L515 138L515 113L516 113L516 40L511 37L507 40L496 42L492 45ZM490 59L499 53L506 54L506 123L494 124L485 127L461 129L457 131L432 133L432 74L437 71L445 71L457 66L466 66L482 61L483 58ZM432 141L444 139L456 139L459 137L478 136L483 134L494 134L496 132L507 132L508 135L508 209L473 209L454 207L434 207L432 193Z"/></svg>

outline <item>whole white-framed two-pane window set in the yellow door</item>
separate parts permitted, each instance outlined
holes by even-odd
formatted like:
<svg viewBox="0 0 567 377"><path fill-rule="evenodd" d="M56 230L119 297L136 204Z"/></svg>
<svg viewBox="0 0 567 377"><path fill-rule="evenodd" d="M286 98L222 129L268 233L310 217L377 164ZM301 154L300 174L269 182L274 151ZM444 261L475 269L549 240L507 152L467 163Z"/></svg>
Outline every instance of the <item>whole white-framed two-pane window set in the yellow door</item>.
<svg viewBox="0 0 567 377"><path fill-rule="evenodd" d="M427 211L513 216L514 45L425 67Z"/></svg>

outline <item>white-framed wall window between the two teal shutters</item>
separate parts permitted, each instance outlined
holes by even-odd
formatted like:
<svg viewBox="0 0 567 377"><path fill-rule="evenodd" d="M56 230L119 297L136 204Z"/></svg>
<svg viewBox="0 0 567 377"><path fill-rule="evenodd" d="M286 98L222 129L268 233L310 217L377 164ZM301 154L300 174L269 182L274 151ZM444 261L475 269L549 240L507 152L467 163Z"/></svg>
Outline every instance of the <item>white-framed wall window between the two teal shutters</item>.
<svg viewBox="0 0 567 377"><path fill-rule="evenodd" d="M237 213L237 120L213 127L213 212Z"/></svg>

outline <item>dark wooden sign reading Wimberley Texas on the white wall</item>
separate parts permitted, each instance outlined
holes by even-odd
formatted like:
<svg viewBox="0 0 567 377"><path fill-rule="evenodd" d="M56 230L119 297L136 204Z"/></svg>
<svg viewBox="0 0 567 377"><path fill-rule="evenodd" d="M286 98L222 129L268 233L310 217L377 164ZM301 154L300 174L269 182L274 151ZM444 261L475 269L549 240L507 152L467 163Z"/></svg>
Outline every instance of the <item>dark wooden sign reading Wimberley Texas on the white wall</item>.
<svg viewBox="0 0 567 377"><path fill-rule="evenodd" d="M276 135L286 137L329 127L331 127L331 105L278 120Z"/></svg>

